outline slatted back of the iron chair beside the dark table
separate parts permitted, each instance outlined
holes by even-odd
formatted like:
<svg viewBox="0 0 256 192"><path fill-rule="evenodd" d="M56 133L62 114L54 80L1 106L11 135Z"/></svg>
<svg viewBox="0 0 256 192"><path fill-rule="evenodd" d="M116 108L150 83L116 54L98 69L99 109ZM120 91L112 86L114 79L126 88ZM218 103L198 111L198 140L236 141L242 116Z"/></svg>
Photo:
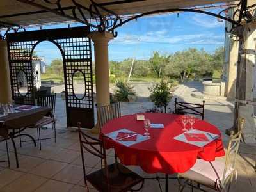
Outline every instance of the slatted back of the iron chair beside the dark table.
<svg viewBox="0 0 256 192"><path fill-rule="evenodd" d="M40 96L36 98L36 105L52 109L52 115L55 115L56 93L52 95Z"/></svg>

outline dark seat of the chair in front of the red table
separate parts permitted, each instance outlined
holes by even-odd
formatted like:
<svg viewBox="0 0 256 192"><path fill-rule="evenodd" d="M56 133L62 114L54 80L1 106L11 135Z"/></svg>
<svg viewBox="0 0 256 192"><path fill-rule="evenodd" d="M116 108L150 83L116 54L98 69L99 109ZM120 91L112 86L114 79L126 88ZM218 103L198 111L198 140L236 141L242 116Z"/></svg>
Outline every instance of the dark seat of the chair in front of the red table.
<svg viewBox="0 0 256 192"><path fill-rule="evenodd" d="M109 190L111 192L128 191L143 182L143 178L140 175L132 172L120 163L114 163L108 165L109 173ZM105 168L97 170L86 176L86 179L99 191L108 191L108 183L105 173Z"/></svg>

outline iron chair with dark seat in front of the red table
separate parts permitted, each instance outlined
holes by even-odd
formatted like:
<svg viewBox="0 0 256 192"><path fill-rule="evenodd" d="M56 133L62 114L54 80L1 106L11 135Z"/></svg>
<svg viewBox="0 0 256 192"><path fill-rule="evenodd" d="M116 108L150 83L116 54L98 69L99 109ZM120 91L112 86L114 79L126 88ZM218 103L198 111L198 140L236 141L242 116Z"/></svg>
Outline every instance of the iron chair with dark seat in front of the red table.
<svg viewBox="0 0 256 192"><path fill-rule="evenodd" d="M88 189L88 182L98 191L118 192L118 191L140 191L143 187L144 179L137 173L132 172L120 163L113 163L108 165L106 149L104 147L104 140L108 140L106 137L102 137L102 140L93 138L85 132L81 131L81 124L77 124L79 132L79 141L81 148L81 157L83 161L83 173L84 184L86 191ZM102 148L102 150L99 150ZM86 174L86 154L92 154L99 157L104 162L100 170L93 173ZM139 189L133 190L134 186L140 184Z"/></svg>

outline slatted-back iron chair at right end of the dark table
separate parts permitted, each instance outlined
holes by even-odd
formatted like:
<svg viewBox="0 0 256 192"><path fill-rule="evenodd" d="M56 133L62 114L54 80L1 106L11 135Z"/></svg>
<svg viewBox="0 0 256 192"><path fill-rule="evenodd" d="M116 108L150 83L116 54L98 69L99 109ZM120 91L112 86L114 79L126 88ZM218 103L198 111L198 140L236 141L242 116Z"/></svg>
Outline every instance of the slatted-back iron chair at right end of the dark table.
<svg viewBox="0 0 256 192"><path fill-rule="evenodd" d="M39 147L40 147L40 150L41 150L42 149L41 140L54 139L54 141L56 143L56 119L54 118L54 116L55 116L55 106L56 106L56 93L54 93L52 95L37 97L36 105L52 109L51 114L48 114L47 116L44 116L42 119L40 119L38 122L36 122L35 125L30 127L30 128L35 128L36 127L36 129L37 129ZM45 125L48 125L48 124L52 124L52 129L54 130L54 137L41 138L41 128L44 127Z"/></svg>

